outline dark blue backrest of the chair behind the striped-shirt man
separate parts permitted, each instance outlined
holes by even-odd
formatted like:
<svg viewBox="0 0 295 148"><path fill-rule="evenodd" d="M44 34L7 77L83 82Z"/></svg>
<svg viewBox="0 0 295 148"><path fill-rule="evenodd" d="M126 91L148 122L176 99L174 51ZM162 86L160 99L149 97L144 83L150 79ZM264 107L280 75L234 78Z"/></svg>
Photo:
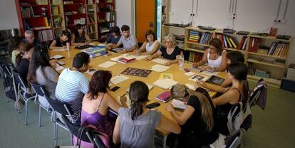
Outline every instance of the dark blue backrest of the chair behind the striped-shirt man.
<svg viewBox="0 0 295 148"><path fill-rule="evenodd" d="M62 115L73 115L73 112L69 109L66 102L60 102L58 100L53 100L47 96L46 100L49 102L49 105L53 108L54 111L62 114Z"/></svg>

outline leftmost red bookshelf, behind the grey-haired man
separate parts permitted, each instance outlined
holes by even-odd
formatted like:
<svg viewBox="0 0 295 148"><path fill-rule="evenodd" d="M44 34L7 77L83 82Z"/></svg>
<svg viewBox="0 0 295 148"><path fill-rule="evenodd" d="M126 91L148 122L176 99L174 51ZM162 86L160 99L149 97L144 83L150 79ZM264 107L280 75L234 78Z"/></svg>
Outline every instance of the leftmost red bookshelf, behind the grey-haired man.
<svg viewBox="0 0 295 148"><path fill-rule="evenodd" d="M40 41L52 41L53 24L48 1L15 0L15 3L21 36L26 30L31 30Z"/></svg>

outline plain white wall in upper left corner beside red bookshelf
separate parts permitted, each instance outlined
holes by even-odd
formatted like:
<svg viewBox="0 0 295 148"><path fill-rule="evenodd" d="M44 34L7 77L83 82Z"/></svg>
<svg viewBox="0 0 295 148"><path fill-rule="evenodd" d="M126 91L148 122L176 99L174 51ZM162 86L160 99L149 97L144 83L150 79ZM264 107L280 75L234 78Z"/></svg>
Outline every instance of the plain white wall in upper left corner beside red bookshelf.
<svg viewBox="0 0 295 148"><path fill-rule="evenodd" d="M16 4L14 0L0 1L0 30L19 28L17 19Z"/></svg>

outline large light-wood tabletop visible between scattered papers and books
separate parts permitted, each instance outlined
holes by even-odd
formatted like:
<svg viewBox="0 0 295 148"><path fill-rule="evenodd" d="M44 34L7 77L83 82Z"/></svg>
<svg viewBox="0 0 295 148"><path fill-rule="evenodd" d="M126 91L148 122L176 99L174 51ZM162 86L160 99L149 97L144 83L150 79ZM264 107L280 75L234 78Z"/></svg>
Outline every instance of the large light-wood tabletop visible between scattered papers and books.
<svg viewBox="0 0 295 148"><path fill-rule="evenodd" d="M71 68L71 65L73 63L73 57L76 55L76 53L81 52L81 50L77 50L74 49L74 47L71 47L70 51L50 51L51 56L54 55L61 55L64 56L65 58L58 60L58 61L62 61L64 63L66 63L66 65L63 65L63 67L65 68ZM132 54L132 53L130 53ZM100 56L97 58L91 58L91 62L90 62L90 67L91 68L96 68L98 70L110 70L113 74L113 77L115 75L122 75L120 73L123 72L123 70L125 70L126 68L142 68L142 69L150 69L150 67L152 65L158 64L152 61L148 61L148 60L137 60L133 63L127 63L127 64L123 64L123 63L116 63L115 65L111 66L110 68L101 68L98 65L100 63L104 63L106 61L112 61L110 60L110 58L114 58L120 56L120 53L113 53L113 55L111 56ZM192 63L185 63L185 67L184 68L191 68L192 67ZM62 70L58 71L58 73L61 73ZM197 71L192 71L193 73L198 73ZM177 81L178 83L182 83L182 84L186 84L186 83L190 83L190 84L194 84L194 82L192 80L189 80L189 78L191 76L187 76L185 75L185 70L180 70L178 64L173 64L170 65L170 69L166 70L163 73L172 73L173 74L173 79L175 81ZM91 78L91 75L85 74L89 80ZM150 73L150 75L148 75L147 78L142 78L142 77L138 77L138 76L133 76L133 75L125 75L127 77L129 77L128 80L123 81L122 83L118 83L117 85L113 84L111 85L111 88L113 88L114 86L119 86L120 88L118 90L116 90L115 92L111 92L110 94L113 95L114 98L117 98L120 95L124 95L125 94L125 90L127 88L130 87L130 84L133 83L135 80L141 80L145 83L148 83L150 85L152 85L152 83L154 83L156 80L159 79L160 77L160 73L152 71L152 73ZM219 77L222 78L226 78L227 75L226 73L219 73L218 74ZM212 85L209 84L208 85ZM167 112L167 110L165 110L165 102L160 102L158 100L155 100L155 96L159 95L160 93L162 93L164 91L164 89L162 88L158 88L157 86L154 86L154 88L152 88L152 90L150 90L150 95L149 95L149 100L150 102L148 102L148 104L152 103L152 102L159 102L160 106L159 107L155 107L155 110L159 110L160 112L162 112L162 115L165 115L166 117L170 118L171 120L175 121L172 117L172 115L170 115L170 112ZM216 92L210 91L209 95L210 96L214 96L216 94ZM167 102L170 103L170 102ZM169 134L169 132L165 131L164 129L160 129L157 128L157 132L162 134L164 136L164 144L163 147L165 146L165 139L167 138L167 135Z"/></svg>

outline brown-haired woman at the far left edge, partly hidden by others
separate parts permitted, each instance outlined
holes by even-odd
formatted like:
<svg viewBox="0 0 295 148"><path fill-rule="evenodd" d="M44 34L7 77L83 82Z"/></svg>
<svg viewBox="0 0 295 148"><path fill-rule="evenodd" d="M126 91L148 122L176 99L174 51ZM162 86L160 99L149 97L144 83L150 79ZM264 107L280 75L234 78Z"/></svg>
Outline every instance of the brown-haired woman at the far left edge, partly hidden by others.
<svg viewBox="0 0 295 148"><path fill-rule="evenodd" d="M21 46L24 43L21 42L21 38L13 36L9 39L9 56L11 56L11 62L16 68L16 56L21 53Z"/></svg>

